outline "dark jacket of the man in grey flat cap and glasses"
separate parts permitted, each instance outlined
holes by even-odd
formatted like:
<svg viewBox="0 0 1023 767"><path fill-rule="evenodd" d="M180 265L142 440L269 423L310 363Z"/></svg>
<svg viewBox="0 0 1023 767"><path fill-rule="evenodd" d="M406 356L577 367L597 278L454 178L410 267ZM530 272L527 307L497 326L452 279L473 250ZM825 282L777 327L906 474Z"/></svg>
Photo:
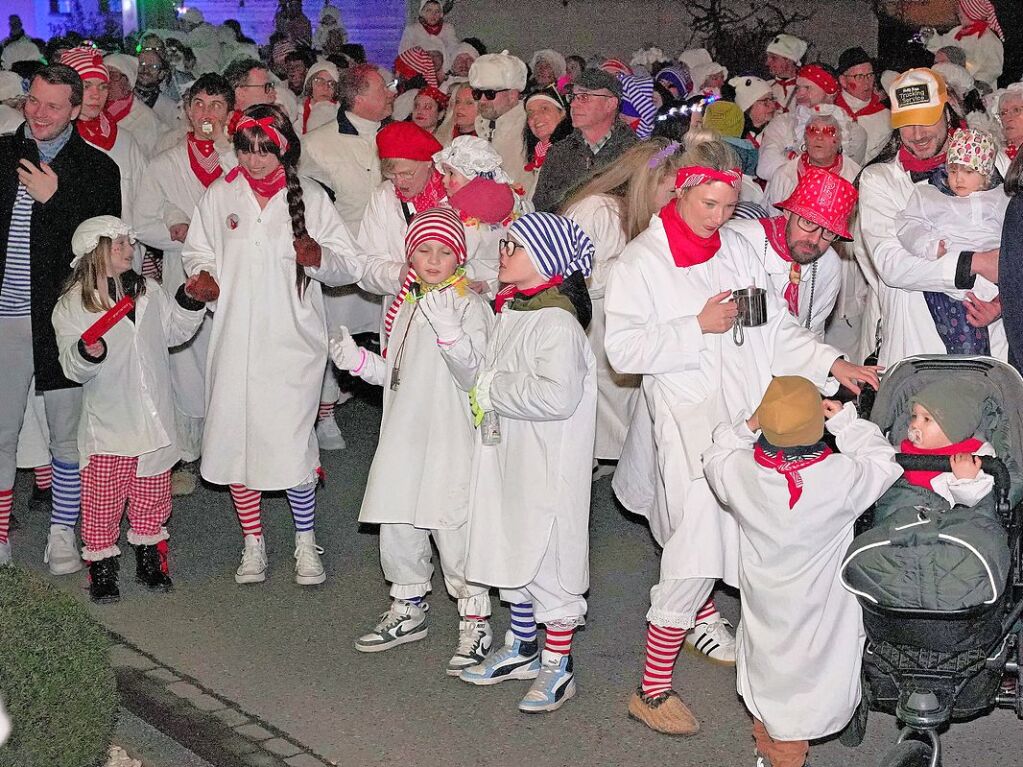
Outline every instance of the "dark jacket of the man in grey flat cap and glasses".
<svg viewBox="0 0 1023 767"><path fill-rule="evenodd" d="M575 130L547 151L533 191L533 206L538 211L554 213L565 195L577 184L605 166L614 163L638 139L632 130L617 121L608 143L594 154L586 139Z"/></svg>

